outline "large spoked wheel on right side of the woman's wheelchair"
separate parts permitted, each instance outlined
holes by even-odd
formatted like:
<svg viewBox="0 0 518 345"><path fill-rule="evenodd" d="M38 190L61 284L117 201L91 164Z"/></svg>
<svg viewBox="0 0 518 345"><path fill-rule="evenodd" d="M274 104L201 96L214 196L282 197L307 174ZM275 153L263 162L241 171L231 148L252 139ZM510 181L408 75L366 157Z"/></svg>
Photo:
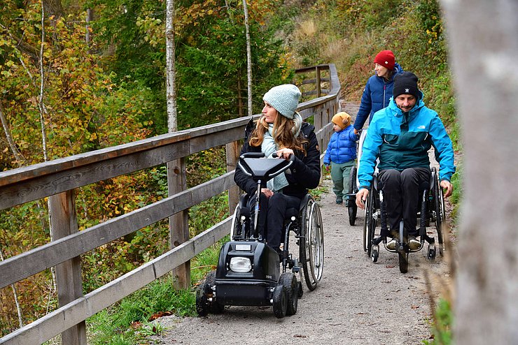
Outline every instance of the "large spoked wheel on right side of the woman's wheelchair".
<svg viewBox="0 0 518 345"><path fill-rule="evenodd" d="M322 215L313 198L308 198L307 205L301 210L300 219L300 263L307 288L313 291L322 278L324 255Z"/></svg>

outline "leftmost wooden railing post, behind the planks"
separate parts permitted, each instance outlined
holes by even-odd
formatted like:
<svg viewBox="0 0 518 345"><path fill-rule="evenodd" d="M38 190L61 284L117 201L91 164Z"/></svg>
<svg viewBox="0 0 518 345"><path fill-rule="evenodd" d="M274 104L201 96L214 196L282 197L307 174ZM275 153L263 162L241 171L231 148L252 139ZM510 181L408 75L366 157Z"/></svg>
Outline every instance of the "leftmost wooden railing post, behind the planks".
<svg viewBox="0 0 518 345"><path fill-rule="evenodd" d="M52 240L59 240L78 232L74 190L64 191L49 197ZM76 256L56 265L57 299L59 307L83 296L81 259ZM86 323L65 330L61 334L63 345L86 345Z"/></svg>

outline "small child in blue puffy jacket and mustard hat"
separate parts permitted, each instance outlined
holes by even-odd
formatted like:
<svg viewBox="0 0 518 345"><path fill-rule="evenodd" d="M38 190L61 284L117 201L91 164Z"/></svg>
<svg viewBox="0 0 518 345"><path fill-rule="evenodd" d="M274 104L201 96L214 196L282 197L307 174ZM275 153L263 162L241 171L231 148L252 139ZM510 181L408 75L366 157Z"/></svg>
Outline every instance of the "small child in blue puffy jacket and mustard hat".
<svg viewBox="0 0 518 345"><path fill-rule="evenodd" d="M354 134L351 115L338 112L331 120L332 133L328 149L325 151L324 166L329 171L331 166L332 191L336 194L336 203L341 204L348 193L349 175L356 161L356 141L359 135Z"/></svg>

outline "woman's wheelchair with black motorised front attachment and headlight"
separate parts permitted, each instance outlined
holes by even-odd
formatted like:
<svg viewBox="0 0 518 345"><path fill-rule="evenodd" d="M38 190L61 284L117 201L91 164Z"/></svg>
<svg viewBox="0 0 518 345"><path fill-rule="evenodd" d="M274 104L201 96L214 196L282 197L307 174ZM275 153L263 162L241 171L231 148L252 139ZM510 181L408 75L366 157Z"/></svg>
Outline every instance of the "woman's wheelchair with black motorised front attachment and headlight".
<svg viewBox="0 0 518 345"><path fill-rule="evenodd" d="M253 195L242 194L239 198L232 216L230 242L221 248L216 271L209 272L197 288L198 315L221 313L225 306L271 305L277 318L291 316L297 312L298 299L303 295L302 279L309 291L321 280L322 216L311 195L304 196L298 210L286 210L282 259L258 230L262 182L290 168L294 159L265 159L264 154L255 152L239 157L239 167L253 178L257 189ZM298 246L298 256L290 251L291 245Z"/></svg>

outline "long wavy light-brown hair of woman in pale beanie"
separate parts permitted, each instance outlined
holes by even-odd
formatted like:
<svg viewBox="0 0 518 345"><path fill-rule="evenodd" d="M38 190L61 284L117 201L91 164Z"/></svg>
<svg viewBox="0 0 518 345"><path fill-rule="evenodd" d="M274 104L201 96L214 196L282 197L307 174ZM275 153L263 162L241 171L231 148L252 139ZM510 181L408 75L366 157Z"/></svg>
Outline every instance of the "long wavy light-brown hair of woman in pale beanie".
<svg viewBox="0 0 518 345"><path fill-rule="evenodd" d="M281 149L286 147L288 149L293 149L293 151L301 151L305 155L306 149L304 144L307 143L307 140L304 138L304 135L302 135L302 132L297 135L293 133L294 126L295 122L292 119L288 119L287 117L282 116L280 112L277 112L277 117L274 120L274 141ZM250 140L248 140L250 146L260 146L267 131L268 123L266 122L265 117L261 116L255 123L255 129L250 135Z"/></svg>

